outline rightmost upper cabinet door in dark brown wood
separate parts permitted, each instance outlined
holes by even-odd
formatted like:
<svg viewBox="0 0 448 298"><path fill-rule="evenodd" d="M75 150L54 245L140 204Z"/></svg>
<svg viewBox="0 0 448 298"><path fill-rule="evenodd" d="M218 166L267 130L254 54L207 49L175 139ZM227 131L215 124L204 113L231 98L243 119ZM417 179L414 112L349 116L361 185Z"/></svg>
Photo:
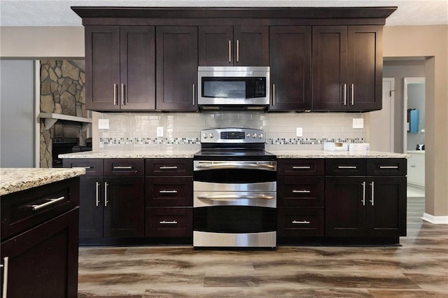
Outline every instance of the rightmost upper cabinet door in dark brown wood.
<svg viewBox="0 0 448 298"><path fill-rule="evenodd" d="M382 107L382 26L349 26L347 108L356 111Z"/></svg>

